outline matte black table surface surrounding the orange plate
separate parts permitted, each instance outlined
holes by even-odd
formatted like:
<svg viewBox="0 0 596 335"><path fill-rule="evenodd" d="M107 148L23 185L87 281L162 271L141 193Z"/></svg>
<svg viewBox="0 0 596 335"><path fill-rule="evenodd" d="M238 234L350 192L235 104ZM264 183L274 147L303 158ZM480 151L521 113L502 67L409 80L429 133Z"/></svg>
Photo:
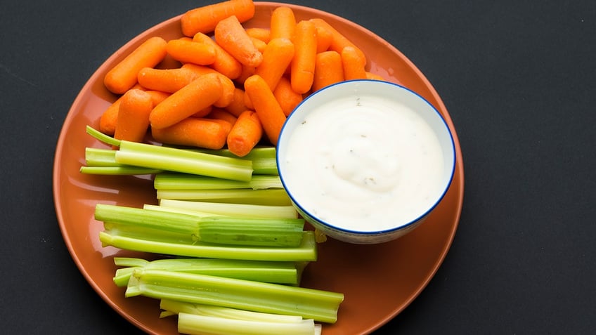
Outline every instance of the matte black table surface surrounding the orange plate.
<svg viewBox="0 0 596 335"><path fill-rule="evenodd" d="M114 51L209 1L3 1L0 325L141 333L72 261L53 155L77 93ZM425 74L458 131L465 200L422 294L375 334L596 331L596 2L294 1L352 20Z"/></svg>

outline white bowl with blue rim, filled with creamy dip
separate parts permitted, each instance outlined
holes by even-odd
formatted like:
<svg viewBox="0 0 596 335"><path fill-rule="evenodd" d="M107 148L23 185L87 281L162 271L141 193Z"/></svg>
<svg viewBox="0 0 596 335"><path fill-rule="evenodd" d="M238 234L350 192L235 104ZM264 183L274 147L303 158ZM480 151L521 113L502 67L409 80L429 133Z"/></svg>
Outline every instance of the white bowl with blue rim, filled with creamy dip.
<svg viewBox="0 0 596 335"><path fill-rule="evenodd" d="M277 145L283 187L328 237L388 242L432 213L455 171L453 136L420 95L387 81L321 88L287 117Z"/></svg>

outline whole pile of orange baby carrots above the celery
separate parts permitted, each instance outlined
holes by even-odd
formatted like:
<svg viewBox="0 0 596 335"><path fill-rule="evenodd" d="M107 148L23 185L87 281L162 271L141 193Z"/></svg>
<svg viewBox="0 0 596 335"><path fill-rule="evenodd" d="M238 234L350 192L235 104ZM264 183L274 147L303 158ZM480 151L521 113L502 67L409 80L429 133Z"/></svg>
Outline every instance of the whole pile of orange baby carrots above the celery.
<svg viewBox="0 0 596 335"><path fill-rule="evenodd" d="M100 130L120 140L153 140L238 157L276 145L287 115L309 93L349 79L382 79L364 53L321 18L297 21L292 8L269 27L245 28L252 0L229 0L181 16L183 37L150 37L104 77L119 98Z"/></svg>

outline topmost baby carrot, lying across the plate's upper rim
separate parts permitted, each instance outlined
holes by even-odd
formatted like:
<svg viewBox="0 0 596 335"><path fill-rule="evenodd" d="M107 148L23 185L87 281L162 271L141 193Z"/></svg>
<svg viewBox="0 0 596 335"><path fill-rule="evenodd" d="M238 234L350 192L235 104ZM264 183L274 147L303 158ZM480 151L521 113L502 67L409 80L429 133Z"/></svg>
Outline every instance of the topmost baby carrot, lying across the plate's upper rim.
<svg viewBox="0 0 596 335"><path fill-rule="evenodd" d="M250 20L254 16L253 1L221 1L216 4L191 9L180 18L182 33L188 37L193 37L197 32L204 34L213 32L219 21L231 15L235 15L240 22Z"/></svg>

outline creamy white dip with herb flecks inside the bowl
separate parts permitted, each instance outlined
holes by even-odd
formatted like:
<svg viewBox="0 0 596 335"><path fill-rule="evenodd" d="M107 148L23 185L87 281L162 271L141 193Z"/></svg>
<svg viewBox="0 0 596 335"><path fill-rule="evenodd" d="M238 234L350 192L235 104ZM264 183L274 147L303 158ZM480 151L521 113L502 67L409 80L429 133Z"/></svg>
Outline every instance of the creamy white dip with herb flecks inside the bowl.
<svg viewBox="0 0 596 335"><path fill-rule="evenodd" d="M420 218L443 192L439 140L405 105L344 98L319 105L298 124L280 157L284 183L321 221L387 230Z"/></svg>

